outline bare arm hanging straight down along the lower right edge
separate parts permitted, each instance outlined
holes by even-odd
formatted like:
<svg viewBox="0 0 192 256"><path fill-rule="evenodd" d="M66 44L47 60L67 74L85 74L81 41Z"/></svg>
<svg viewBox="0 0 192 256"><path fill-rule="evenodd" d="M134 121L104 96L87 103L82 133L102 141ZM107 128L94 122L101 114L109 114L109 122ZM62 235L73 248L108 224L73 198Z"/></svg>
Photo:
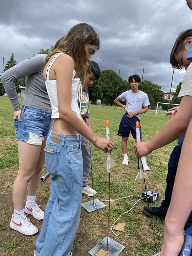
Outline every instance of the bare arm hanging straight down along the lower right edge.
<svg viewBox="0 0 192 256"><path fill-rule="evenodd" d="M192 120L182 145L171 203L165 218L161 256L178 256L184 241L183 228L192 211Z"/></svg>

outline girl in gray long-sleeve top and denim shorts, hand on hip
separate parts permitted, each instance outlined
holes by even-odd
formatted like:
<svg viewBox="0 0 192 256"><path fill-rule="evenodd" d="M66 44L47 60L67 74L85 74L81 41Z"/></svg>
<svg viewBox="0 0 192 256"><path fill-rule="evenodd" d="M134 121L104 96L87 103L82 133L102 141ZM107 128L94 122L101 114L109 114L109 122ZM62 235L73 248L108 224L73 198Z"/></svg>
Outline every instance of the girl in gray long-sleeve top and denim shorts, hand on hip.
<svg viewBox="0 0 192 256"><path fill-rule="evenodd" d="M14 213L10 228L29 236L38 233L38 228L30 223L25 213L33 215L37 220L43 220L44 216L35 198L40 172L45 162L44 147L53 121L42 75L45 57L45 54L30 56L0 77L14 109L13 123L19 154L19 171L13 185ZM15 81L25 76L25 97L21 108ZM27 202L23 209L27 190Z"/></svg>

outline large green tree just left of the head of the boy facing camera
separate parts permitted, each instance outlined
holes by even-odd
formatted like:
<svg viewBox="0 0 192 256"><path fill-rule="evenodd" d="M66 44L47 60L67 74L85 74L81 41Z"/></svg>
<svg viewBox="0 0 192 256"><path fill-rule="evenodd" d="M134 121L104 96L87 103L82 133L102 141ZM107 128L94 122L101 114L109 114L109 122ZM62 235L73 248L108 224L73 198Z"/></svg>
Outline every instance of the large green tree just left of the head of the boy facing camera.
<svg viewBox="0 0 192 256"><path fill-rule="evenodd" d="M118 88L117 88L118 85ZM99 86L99 88L98 88ZM101 90L102 88L102 90ZM90 100L95 103L96 98L102 99L102 93L104 97L104 104L113 105L114 99L122 92L127 91L129 84L124 81L115 71L107 69L101 72L101 77L98 79L93 86L90 87ZM97 97L98 91L98 97Z"/></svg>

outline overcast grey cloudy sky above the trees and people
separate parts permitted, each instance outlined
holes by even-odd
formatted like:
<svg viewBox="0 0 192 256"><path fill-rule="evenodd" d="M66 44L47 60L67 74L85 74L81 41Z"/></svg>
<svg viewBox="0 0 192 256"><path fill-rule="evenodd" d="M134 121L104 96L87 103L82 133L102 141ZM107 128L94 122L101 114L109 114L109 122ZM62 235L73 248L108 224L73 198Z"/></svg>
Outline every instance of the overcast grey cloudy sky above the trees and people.
<svg viewBox="0 0 192 256"><path fill-rule="evenodd" d="M19 63L50 48L77 23L93 25L101 49L93 56L101 70L113 69L123 79L137 73L169 91L172 46L192 28L185 0L2 0L0 4L0 73L11 53ZM172 91L184 70L175 70Z"/></svg>

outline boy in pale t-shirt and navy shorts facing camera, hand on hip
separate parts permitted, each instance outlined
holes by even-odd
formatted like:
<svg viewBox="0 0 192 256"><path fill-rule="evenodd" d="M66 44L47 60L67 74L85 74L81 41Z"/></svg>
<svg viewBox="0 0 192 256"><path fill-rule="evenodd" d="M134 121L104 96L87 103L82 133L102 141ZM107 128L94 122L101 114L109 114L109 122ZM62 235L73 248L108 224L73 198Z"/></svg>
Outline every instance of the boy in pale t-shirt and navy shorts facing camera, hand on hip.
<svg viewBox="0 0 192 256"><path fill-rule="evenodd" d="M121 95L119 95L115 100L114 103L122 106L126 113L123 115L120 125L119 131L117 135L121 136L121 148L124 155L124 160L122 162L123 165L128 165L129 158L127 156L127 140L129 138L129 133L131 132L133 138L136 142L136 121L140 122L140 114L147 112L149 103L149 98L146 93L140 91L138 86L141 82L140 76L134 74L130 76L129 84L131 86L131 90L125 91ZM120 101L126 101L126 105L121 104ZM141 126L140 126L140 138L141 138ZM143 168L145 171L150 171L145 157L141 158Z"/></svg>

